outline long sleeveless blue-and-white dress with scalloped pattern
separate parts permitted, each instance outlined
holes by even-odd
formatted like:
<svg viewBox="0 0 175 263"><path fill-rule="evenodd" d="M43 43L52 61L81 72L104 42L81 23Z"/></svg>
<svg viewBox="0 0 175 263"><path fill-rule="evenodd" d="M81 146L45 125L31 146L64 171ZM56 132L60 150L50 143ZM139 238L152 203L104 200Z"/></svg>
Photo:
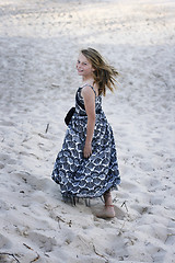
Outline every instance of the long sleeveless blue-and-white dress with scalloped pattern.
<svg viewBox="0 0 175 263"><path fill-rule="evenodd" d="M102 110L102 95L95 93L95 128L92 139L92 155L83 157L86 138L88 115L81 95L75 94L75 112L68 125L62 149L59 151L51 178L60 185L65 201L74 197L101 197L106 191L120 183L117 153L110 125Z"/></svg>

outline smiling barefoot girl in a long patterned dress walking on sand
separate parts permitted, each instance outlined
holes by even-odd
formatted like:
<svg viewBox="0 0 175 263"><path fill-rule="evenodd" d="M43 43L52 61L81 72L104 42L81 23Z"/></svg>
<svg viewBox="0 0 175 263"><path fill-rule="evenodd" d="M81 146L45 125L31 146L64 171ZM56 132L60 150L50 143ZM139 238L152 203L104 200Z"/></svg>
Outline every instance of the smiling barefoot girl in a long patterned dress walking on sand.
<svg viewBox="0 0 175 263"><path fill-rule="evenodd" d="M69 122L52 180L60 184L63 199L104 196L98 217L113 218L110 190L120 183L113 130L102 110L106 88L113 91L118 72L93 48L82 49L78 62L82 84L75 95L75 112Z"/></svg>

